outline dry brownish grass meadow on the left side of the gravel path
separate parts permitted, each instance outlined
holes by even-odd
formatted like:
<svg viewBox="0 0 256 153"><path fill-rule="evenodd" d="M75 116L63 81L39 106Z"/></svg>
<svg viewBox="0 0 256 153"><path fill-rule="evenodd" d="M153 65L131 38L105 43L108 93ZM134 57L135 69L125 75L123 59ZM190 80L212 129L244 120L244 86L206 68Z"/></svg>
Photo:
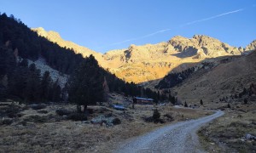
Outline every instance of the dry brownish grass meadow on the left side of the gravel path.
<svg viewBox="0 0 256 153"><path fill-rule="evenodd" d="M165 124L144 122L143 117L153 114L153 106L147 105L136 105L135 110L127 111L116 111L104 106L90 107L94 113L89 116L89 120L101 114L118 117L121 124L113 127L63 120L55 114L55 110L60 108L75 110L75 105L48 105L40 111L31 108L21 111L22 116L13 118L11 125L1 126L0 152L111 152L125 139L172 123L168 120ZM163 119L165 114L171 115L173 122L209 115L207 111L172 106L157 106L157 109Z"/></svg>

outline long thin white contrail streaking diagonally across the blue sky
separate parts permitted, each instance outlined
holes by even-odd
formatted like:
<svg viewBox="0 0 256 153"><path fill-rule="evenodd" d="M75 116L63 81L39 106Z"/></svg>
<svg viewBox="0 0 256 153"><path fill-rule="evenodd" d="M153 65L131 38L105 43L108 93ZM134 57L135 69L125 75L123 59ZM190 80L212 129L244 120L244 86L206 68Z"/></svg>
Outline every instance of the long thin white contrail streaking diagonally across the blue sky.
<svg viewBox="0 0 256 153"><path fill-rule="evenodd" d="M255 5L253 5L253 7L255 7ZM208 18L205 18L205 19L201 19L201 20L194 20L194 21L191 21L191 22L188 22L188 23L185 23L185 24L182 24L178 27L183 27L183 26L189 26L189 25L193 25L193 24L196 24L196 23L199 23L199 22L203 22L203 21L207 21L207 20L212 20L212 19L216 19L216 18L219 18L219 17L222 17L224 15L227 15L227 14L235 14L235 13L238 13L238 12L241 12L243 11L244 8L240 8L240 9L236 9L236 10L233 10L233 11L230 11L230 12L226 12L226 13L223 13L223 14L217 14L217 15L214 15L214 16L211 16L211 17L208 17ZM159 33L163 33L163 32L166 32L166 31L171 31L175 28L169 28L169 29L163 29L163 30L160 30L160 31L155 31L153 33L149 33L147 35L144 35L144 36L141 36L141 37L134 37L134 38L131 38L131 39L127 39L127 40L124 40L124 41L121 41L121 42L113 42L111 44L108 44L106 46L103 46L101 48L106 48L108 46L114 46L114 45L118 45L118 44L122 44L122 43L125 43L125 42L131 42L131 41L135 41L135 40L139 40L139 39L143 39L143 38L146 38L146 37L152 37L154 35L157 35ZM99 48L98 48L99 49Z"/></svg>

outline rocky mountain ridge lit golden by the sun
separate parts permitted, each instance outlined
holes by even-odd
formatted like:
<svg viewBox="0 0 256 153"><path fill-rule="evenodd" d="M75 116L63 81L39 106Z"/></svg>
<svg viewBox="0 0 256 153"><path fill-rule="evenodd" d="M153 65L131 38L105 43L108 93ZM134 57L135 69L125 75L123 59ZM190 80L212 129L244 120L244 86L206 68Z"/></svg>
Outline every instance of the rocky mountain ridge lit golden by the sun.
<svg viewBox="0 0 256 153"><path fill-rule="evenodd" d="M84 56L93 54L103 68L126 82L136 83L159 80L171 71L186 70L193 66L190 65L191 63L197 63L207 58L241 55L256 48L255 41L246 48L236 48L212 37L195 35L192 38L172 37L167 42L143 46L131 44L129 48L99 54L89 48L63 40L55 31L44 31L43 28L32 30L62 47L73 48L76 53Z"/></svg>

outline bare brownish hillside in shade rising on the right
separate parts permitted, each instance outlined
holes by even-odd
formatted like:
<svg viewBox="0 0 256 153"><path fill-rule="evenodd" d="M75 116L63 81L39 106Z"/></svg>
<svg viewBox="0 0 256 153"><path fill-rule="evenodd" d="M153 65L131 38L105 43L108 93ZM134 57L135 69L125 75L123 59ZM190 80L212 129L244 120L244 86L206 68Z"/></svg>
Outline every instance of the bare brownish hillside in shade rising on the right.
<svg viewBox="0 0 256 153"><path fill-rule="evenodd" d="M199 104L200 99L207 105L218 106L220 99L234 102L234 95L241 94L256 82L256 51L246 56L221 58L212 69L192 74L178 87L172 88L181 101ZM243 99L240 99L240 101Z"/></svg>

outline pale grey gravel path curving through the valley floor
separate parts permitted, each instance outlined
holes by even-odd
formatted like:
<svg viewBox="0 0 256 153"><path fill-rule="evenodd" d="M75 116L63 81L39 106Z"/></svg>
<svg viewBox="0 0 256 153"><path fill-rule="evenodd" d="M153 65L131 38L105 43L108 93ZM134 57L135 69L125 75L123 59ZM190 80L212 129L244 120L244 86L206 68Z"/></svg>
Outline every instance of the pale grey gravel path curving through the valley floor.
<svg viewBox="0 0 256 153"><path fill-rule="evenodd" d="M224 115L223 111L216 111L211 116L161 127L143 136L130 139L115 152L204 152L196 131L207 122L222 115Z"/></svg>

